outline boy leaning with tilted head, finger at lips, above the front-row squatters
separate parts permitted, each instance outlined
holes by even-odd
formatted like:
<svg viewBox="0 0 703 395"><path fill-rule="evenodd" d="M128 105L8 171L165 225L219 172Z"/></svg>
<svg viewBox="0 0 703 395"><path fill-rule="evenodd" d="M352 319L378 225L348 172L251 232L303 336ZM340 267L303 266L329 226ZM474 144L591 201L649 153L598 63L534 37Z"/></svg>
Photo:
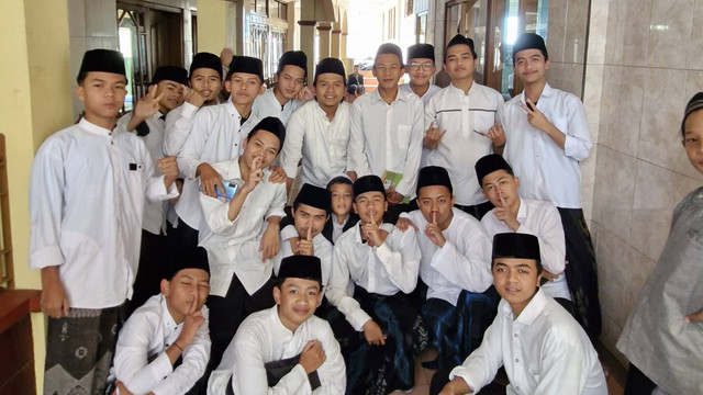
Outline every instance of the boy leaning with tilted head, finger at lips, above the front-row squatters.
<svg viewBox="0 0 703 395"><path fill-rule="evenodd" d="M225 182L239 185L234 196L200 194L207 224L200 245L208 250L212 273L208 300L211 368L220 363L242 320L274 305L272 258L278 253L286 184L271 183L268 167L284 138L280 120L264 119L244 140L238 159L213 165Z"/></svg>

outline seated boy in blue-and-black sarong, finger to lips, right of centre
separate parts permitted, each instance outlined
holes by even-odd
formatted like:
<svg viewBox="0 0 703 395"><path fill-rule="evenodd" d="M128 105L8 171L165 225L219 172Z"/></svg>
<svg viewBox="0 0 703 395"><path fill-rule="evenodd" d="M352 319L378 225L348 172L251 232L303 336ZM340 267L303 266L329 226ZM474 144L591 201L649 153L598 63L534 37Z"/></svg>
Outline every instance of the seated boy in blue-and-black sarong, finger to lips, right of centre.
<svg viewBox="0 0 703 395"><path fill-rule="evenodd" d="M495 317L491 240L478 219L454 207L453 185L444 168L420 169L417 206L401 214L397 227L417 230L424 291L419 302L437 350L437 359L423 365L444 369L461 363L479 347Z"/></svg>

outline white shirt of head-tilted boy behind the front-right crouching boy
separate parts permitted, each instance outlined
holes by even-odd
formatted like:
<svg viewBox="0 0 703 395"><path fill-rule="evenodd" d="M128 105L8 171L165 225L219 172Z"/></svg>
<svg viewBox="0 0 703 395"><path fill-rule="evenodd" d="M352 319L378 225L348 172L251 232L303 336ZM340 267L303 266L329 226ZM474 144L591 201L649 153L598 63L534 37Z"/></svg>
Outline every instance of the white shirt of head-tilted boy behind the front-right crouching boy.
<svg viewBox="0 0 703 395"><path fill-rule="evenodd" d="M561 216L559 216L557 207L547 201L521 199L517 222L520 227L516 233L534 235L539 240L539 256L543 268L554 274L559 274L554 281L548 281L542 285L542 289L551 297L562 297L571 301L571 293L563 274L567 253L563 225L561 225ZM495 217L495 208L483 215L481 224L491 240L493 240L495 234L513 233L505 223Z"/></svg>

